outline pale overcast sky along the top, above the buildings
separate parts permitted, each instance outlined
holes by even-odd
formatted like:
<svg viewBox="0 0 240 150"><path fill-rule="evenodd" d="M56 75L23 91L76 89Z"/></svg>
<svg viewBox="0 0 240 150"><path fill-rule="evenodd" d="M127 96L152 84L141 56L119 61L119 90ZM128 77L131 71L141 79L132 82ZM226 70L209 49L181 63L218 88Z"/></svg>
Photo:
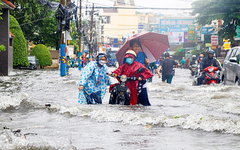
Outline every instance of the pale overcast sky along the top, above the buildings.
<svg viewBox="0 0 240 150"><path fill-rule="evenodd" d="M79 5L79 0L72 0ZM153 7L153 8L191 8L191 3L195 0L135 0L135 5L137 7ZM114 0L82 0L82 6L92 5L102 7L112 7ZM148 9L138 9L137 11L145 12L161 12L163 14L181 13L181 10L148 10ZM186 11L186 10L185 10Z"/></svg>

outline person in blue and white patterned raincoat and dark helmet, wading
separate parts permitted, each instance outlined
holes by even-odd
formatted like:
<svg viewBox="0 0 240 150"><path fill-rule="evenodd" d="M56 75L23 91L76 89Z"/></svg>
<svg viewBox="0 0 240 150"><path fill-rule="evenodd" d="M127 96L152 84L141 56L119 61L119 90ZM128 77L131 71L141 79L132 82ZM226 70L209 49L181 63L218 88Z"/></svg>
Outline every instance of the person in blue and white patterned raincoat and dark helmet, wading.
<svg viewBox="0 0 240 150"><path fill-rule="evenodd" d="M107 55L99 53L96 61L91 61L84 68L79 82L80 104L102 104L108 85L111 85L107 75Z"/></svg>

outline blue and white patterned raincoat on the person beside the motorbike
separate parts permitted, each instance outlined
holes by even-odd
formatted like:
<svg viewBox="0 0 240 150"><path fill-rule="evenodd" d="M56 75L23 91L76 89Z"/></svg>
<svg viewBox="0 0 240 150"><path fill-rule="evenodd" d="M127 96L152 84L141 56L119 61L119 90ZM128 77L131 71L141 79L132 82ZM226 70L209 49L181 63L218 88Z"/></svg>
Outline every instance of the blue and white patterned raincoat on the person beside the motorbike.
<svg viewBox="0 0 240 150"><path fill-rule="evenodd" d="M80 85L84 86L84 89L79 92L78 102L80 104L86 104L86 98L92 99L94 95L100 94L101 99L103 99L106 94L107 85L111 85L106 65L100 67L96 61L88 63L80 76ZM95 103L94 100L92 101Z"/></svg>

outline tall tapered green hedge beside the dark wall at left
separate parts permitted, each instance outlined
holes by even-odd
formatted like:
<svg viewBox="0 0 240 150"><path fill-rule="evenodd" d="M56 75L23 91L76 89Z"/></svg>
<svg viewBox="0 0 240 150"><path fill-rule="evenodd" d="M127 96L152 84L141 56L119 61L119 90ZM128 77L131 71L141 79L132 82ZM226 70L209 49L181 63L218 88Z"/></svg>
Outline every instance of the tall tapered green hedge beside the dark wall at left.
<svg viewBox="0 0 240 150"><path fill-rule="evenodd" d="M13 66L29 66L28 48L17 20L10 15L10 31L15 35L13 39Z"/></svg>

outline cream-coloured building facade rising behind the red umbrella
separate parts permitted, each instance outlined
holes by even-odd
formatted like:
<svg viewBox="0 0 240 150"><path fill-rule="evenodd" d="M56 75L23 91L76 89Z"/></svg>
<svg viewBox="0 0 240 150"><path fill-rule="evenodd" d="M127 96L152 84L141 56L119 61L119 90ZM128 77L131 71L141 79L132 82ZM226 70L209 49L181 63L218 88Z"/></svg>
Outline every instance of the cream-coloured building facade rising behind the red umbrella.
<svg viewBox="0 0 240 150"><path fill-rule="evenodd" d="M138 16L135 8L134 0L115 0L113 8L102 9L99 14L100 42L116 44L126 36L137 33Z"/></svg>

